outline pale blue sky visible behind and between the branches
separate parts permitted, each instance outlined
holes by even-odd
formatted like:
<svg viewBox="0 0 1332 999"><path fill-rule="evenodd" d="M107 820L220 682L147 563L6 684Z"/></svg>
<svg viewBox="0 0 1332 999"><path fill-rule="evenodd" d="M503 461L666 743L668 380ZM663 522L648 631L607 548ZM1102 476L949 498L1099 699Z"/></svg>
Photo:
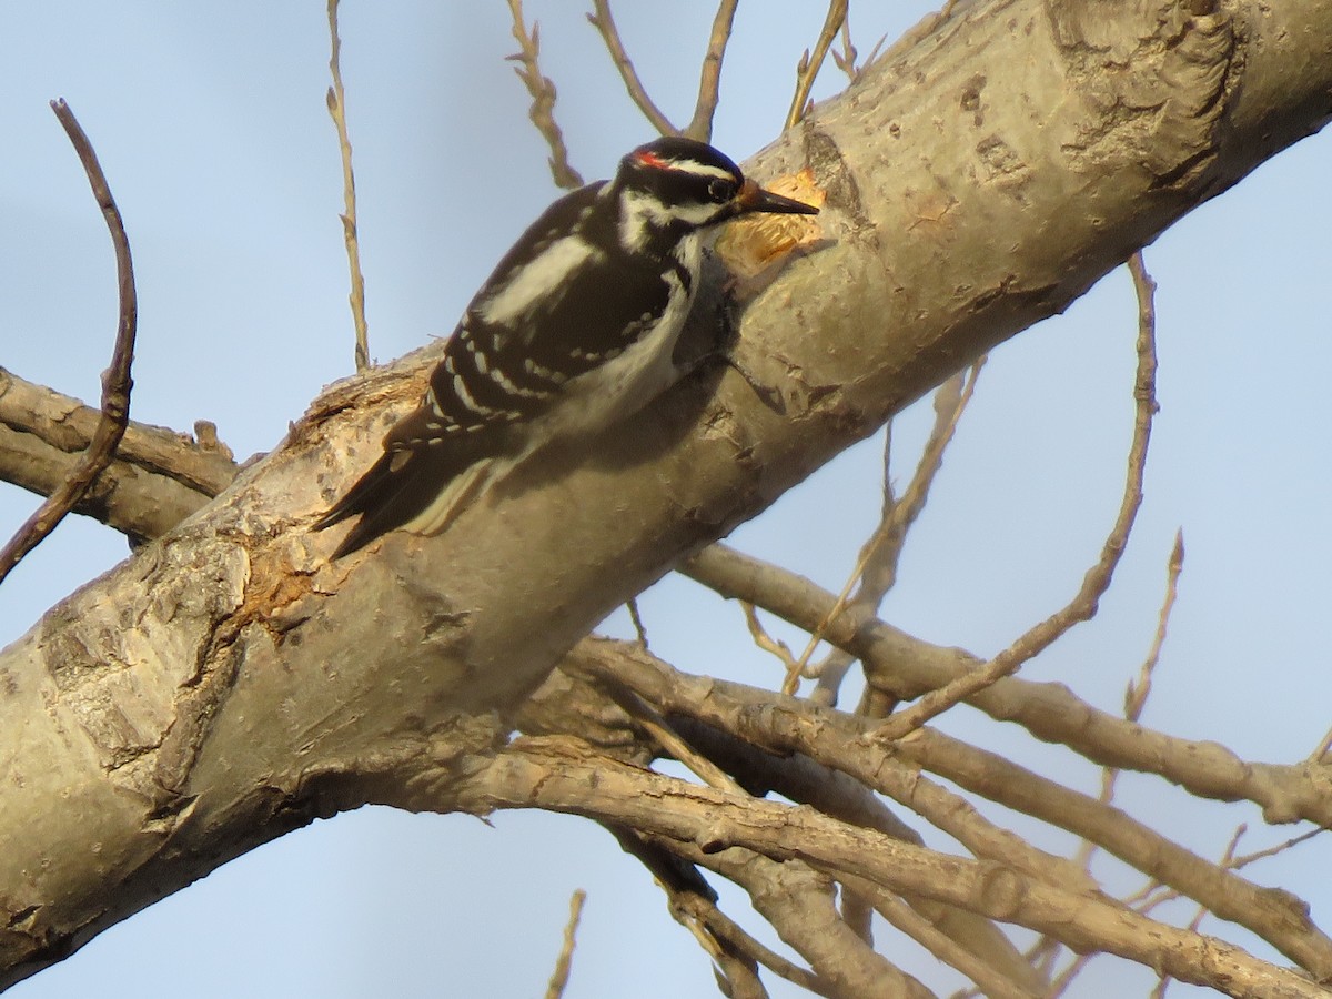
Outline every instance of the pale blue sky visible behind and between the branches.
<svg viewBox="0 0 1332 999"><path fill-rule="evenodd" d="M543 71L559 88L555 113L573 164L589 180L607 176L650 128L623 96L583 5L525 7L541 21ZM867 53L927 11L852 4L856 45ZM650 92L677 123L693 111L713 12L698 0L615 9ZM778 133L795 61L823 13L817 3L741 4L714 132L733 157ZM526 120L527 95L503 61L517 48L505 4L349 0L341 21L370 349L386 361L448 334L557 192ZM321 3L0 0L0 366L96 401L111 353L115 262L48 108L65 97L133 248L136 420L180 430L212 420L244 458L276 445L324 385L349 374L328 49ZM830 63L815 95L843 85ZM1329 157L1327 136L1305 140L1147 249L1160 282L1162 413L1146 503L1100 615L1023 671L1119 710L1183 527L1179 605L1143 721L1267 762L1301 759L1332 721ZM1120 500L1135 322L1120 269L992 354L886 619L988 655L1072 595ZM898 456L914 453L928 418L928 405L899 418ZM880 457L882 438L852 448L731 543L840 589L878 515ZM894 477L904 484L910 470L899 458ZM0 534L36 502L0 484ZM115 531L67 519L0 586L0 645L125 554ZM654 650L681 669L781 682L735 605L669 577L641 607ZM622 614L605 630L629 634ZM854 695L848 687L847 703ZM1072 754L975 711L954 711L940 727L1083 790L1098 786L1098 773ZM1150 778L1126 777L1119 801L1207 856L1220 855L1240 822L1251 823L1243 851L1304 829L1260 829L1252 807L1191 802ZM1064 834L987 814L1048 848L1072 848ZM1248 874L1301 894L1315 920L1332 926L1328 870L1317 840ZM1114 866L1100 872L1126 890L1139 883ZM578 887L589 899L569 999L715 994L707 959L649 875L591 823L510 813L488 826L362 809L226 864L12 995L539 995ZM742 912L735 891L723 899ZM1191 912L1173 916L1187 922ZM914 946L891 946L927 984L960 984ZM1071 994L1140 995L1152 980L1103 958ZM775 996L794 994L769 984Z"/></svg>

